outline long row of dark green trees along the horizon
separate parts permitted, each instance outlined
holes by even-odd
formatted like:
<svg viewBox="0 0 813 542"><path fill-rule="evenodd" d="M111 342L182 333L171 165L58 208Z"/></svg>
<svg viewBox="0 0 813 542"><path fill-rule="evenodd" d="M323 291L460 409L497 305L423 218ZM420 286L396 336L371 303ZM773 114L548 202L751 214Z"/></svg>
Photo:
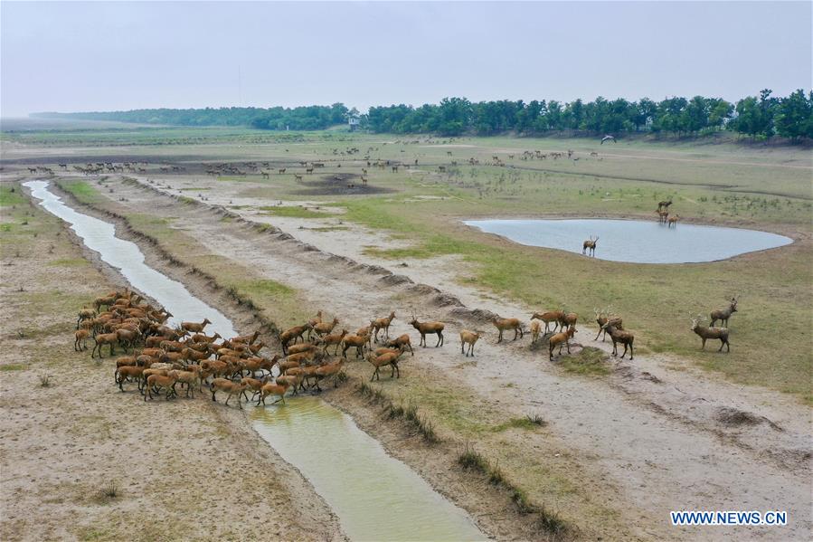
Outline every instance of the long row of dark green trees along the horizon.
<svg viewBox="0 0 813 542"><path fill-rule="evenodd" d="M720 98L695 96L642 98L629 101L596 100L496 100L472 102L445 98L439 104L371 107L366 114L343 103L297 108L136 109L91 113L40 113L38 116L73 119L118 120L177 126L251 126L270 130L330 128L358 119L373 133L439 136L464 134L491 136L513 132L521 135L571 133L573 135L624 135L640 132L703 136L723 129L752 138L780 136L813 138L813 91L796 90L785 98L761 90L731 103Z"/></svg>

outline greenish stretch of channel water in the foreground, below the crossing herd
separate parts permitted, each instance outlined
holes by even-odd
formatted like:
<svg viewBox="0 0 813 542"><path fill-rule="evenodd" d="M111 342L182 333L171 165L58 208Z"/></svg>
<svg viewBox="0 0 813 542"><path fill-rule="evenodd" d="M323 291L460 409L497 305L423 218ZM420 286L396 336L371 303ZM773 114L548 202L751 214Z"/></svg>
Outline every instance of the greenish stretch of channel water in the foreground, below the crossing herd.
<svg viewBox="0 0 813 542"><path fill-rule="evenodd" d="M353 419L317 397L256 408L254 429L310 480L360 541L483 540L468 515Z"/></svg>

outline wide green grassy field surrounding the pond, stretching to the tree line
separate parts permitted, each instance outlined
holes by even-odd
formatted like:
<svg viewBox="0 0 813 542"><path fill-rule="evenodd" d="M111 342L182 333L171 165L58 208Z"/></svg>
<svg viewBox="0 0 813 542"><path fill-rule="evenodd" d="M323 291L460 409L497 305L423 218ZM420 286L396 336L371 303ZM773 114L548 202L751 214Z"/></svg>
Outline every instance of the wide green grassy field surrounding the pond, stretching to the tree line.
<svg viewBox="0 0 813 542"><path fill-rule="evenodd" d="M58 146L73 141L69 135L33 132L4 138ZM156 146L173 142L172 149L161 151L162 156L167 160L178 157L185 164L229 157L288 166L286 175L272 174L269 180L260 175L220 177L217 186L205 194L222 189L256 200L258 210L269 215L314 219L315 226L332 229L334 226L316 222L324 216L320 212L298 206L274 208L263 201L299 202L307 194L310 202L343 210L342 220L400 241L401 248L369 249L374 256L401 261L457 255L468 263L459 273L460 283L539 309L563 305L582 319L591 319L596 307L612 305L636 333L641 353L686 357L733 381L766 385L813 404L810 350L807 345L799 346L813 305L809 241L813 168L804 148L756 147L733 140L628 139L600 146L594 139L275 134L243 128L115 129L70 135L74 136L85 138L81 144L101 146L93 149L97 155L118 153L114 147L128 143L133 145L128 147L133 157L150 156L156 153ZM80 144L78 140L76 144ZM568 149L579 159L521 159L525 150L551 153ZM402 167L394 173L390 167L367 166L364 155L411 165L417 160L417 165L409 172ZM491 165L492 157L499 157L506 166ZM470 165L470 158L479 163ZM306 185L303 190L292 175L301 169L299 160L326 162L325 170L317 172L321 176L354 176L342 183L359 182L362 167L367 168L370 185L387 193L352 195L322 185ZM447 172L440 173L439 166L445 166ZM316 177L308 177L306 182ZM207 187L202 183L193 186ZM75 190L82 188L77 185ZM797 242L729 261L644 265L525 247L460 223L495 216L652 219L657 202L668 198L675 202L673 212L685 221L762 228ZM165 227L147 225L157 234ZM409 241L405 248L404 241ZM194 258L203 265L204 256ZM732 353L701 352L699 338L689 329L690 315L722 308L735 293L742 297L740 312L731 321Z"/></svg>

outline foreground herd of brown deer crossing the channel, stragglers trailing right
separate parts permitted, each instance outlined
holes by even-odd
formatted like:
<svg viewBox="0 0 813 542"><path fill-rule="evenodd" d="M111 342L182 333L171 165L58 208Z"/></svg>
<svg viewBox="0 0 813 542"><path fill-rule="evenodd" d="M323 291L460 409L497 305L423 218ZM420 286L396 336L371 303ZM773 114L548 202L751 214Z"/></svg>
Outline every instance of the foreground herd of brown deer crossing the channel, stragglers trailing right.
<svg viewBox="0 0 813 542"><path fill-rule="evenodd" d="M703 340L703 349L706 340L718 339L721 341L718 351L722 351L723 346L728 348L727 351L731 350L728 328L716 328L714 324L720 320L723 326L728 325L728 320L737 311L737 299L733 297L726 309L711 313L710 327L701 325L703 318L700 316L692 320L692 331ZM267 345L256 342L259 332L223 339L217 333L205 334L204 329L211 324L209 319L181 322L178 327L171 328L165 324L170 317L172 314L152 307L135 292L110 292L94 300L92 308L80 310L74 350L87 350L90 339L94 343L91 357L103 357L104 347L109 347L110 356L115 355L116 347L122 348L125 356L116 360L115 383L121 391L125 391L125 384L135 383L145 401L161 393L166 399L176 396L177 385L185 387L187 397L192 395L194 398L195 389L202 392L205 383L213 401L217 401L218 392L226 395L226 404L236 396L240 408L241 398L246 402L256 400L260 405L273 395L278 397L278 402L284 403L288 391L293 394L308 388L322 391L320 383L325 381L336 386L347 363L347 351L351 348L355 348L356 359L362 358L373 366L371 380L380 379L381 369L387 366L391 368L391 377L400 378L402 355L407 350L411 356L415 355L409 334L390 338L392 320L396 318L394 311L389 316L371 319L355 333L348 333L346 329L336 332L339 320L324 321L320 310L303 325L279 333L282 355L271 358L260 356L260 351ZM561 355L565 347L570 354L570 339L576 331L577 320L578 315L563 310L534 312L530 323L532 347L543 335L548 341L551 361L557 347L557 355ZM609 334L613 356L618 356L619 345L622 345L621 359L627 355L628 349L629 359L633 359L635 336L624 329L623 320L609 309L595 309L595 321L599 332L593 340L598 340L603 333L601 340L604 341ZM491 323L497 330L497 343L503 341L506 331L514 331L513 340L525 336L520 319L495 317ZM421 347L427 346L426 336L431 334L438 336L435 347L443 346L443 322L421 322L413 316L409 324L421 335ZM459 335L460 353L464 357L474 357L475 344L484 333L463 329ZM337 360L330 359L328 347L331 346ZM339 348L342 349L341 356L338 355ZM276 378L273 376L275 366L278 370ZM249 391L253 394L251 400L247 395Z"/></svg>

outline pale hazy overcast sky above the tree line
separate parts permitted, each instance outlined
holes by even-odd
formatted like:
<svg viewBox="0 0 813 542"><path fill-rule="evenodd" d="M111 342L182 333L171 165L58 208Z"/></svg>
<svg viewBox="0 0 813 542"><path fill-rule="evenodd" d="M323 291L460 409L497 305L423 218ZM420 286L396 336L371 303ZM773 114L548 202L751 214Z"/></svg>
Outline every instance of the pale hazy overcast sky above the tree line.
<svg viewBox="0 0 813 542"><path fill-rule="evenodd" d="M0 2L0 114L811 87L810 2Z"/></svg>

